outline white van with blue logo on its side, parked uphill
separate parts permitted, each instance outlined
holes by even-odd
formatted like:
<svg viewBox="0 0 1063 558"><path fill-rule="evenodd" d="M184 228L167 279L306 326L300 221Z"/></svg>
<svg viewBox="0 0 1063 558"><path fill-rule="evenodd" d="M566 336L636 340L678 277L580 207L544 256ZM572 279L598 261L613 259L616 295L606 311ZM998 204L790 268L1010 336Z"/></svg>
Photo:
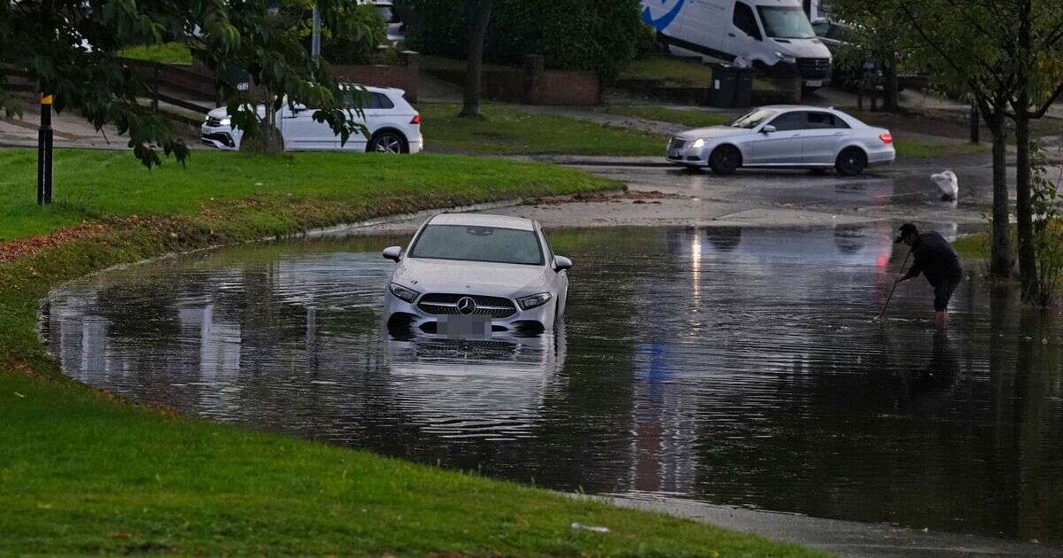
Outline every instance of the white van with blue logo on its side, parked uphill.
<svg viewBox="0 0 1063 558"><path fill-rule="evenodd" d="M830 74L802 0L642 0L642 20L676 54L799 75L808 88Z"/></svg>

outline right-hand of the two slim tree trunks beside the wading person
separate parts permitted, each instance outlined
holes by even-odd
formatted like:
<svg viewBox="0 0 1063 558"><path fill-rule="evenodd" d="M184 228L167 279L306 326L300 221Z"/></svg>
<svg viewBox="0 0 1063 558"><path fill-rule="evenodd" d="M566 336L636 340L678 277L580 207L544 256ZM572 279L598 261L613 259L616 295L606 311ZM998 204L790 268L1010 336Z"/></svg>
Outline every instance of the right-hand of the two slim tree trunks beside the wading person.
<svg viewBox="0 0 1063 558"><path fill-rule="evenodd" d="M1018 105L1027 92L1018 94ZM1015 119L1015 215L1018 221L1018 275L1023 283L1023 300L1032 302L1037 294L1037 259L1033 250L1033 208L1030 204L1030 120L1019 114Z"/></svg>

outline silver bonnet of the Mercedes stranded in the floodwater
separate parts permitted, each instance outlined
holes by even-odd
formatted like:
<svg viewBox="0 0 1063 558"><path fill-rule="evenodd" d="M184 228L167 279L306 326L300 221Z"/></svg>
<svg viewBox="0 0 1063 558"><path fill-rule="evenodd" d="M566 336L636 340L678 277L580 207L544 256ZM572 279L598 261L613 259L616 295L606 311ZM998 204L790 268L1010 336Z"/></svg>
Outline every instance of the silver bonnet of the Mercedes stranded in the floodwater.
<svg viewBox="0 0 1063 558"><path fill-rule="evenodd" d="M392 281L421 293L468 292L509 298L543 292L550 271L546 266L406 257L395 268Z"/></svg>

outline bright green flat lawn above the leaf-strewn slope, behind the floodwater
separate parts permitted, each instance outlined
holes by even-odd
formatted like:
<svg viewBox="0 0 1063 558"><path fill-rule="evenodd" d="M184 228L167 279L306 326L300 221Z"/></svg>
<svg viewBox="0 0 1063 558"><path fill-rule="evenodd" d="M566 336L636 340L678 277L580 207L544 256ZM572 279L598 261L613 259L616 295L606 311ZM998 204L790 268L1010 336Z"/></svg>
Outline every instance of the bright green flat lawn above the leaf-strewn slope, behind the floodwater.
<svg viewBox="0 0 1063 558"><path fill-rule="evenodd" d="M107 217L220 210L232 200L289 204L313 199L361 215L372 203L395 198L440 206L586 191L606 184L550 165L431 154L265 157L204 150L193 151L184 167L168 159L149 171L129 152L60 150L54 165L55 203L41 209L36 205L36 151L0 150L0 242Z"/></svg>

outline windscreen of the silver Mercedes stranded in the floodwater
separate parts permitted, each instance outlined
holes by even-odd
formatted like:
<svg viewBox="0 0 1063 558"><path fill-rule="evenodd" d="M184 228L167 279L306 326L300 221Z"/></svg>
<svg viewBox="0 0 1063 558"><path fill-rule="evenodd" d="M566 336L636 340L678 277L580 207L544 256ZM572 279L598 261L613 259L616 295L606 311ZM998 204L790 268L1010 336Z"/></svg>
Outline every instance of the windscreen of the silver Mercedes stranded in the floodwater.
<svg viewBox="0 0 1063 558"><path fill-rule="evenodd" d="M410 257L543 265L535 231L500 226L429 224L409 251Z"/></svg>

